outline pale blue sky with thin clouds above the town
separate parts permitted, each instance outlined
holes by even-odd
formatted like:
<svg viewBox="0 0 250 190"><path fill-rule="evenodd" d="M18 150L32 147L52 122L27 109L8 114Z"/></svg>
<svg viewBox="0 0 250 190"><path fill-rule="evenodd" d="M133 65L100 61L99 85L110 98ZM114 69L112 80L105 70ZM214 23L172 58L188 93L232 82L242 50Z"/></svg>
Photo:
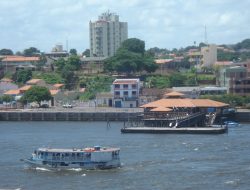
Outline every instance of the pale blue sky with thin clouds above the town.
<svg viewBox="0 0 250 190"><path fill-rule="evenodd" d="M107 11L127 22L128 37L145 41L146 49L205 39L233 44L250 38L249 7L250 0L0 0L0 49L50 52L56 44L66 49L68 41L68 49L83 52L89 21Z"/></svg>

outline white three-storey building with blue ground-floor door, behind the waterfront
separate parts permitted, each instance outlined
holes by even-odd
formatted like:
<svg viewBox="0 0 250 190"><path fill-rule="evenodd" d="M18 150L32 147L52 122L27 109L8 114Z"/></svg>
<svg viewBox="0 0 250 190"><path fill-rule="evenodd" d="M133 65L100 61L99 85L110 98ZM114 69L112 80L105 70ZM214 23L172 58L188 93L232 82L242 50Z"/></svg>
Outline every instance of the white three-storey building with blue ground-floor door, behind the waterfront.
<svg viewBox="0 0 250 190"><path fill-rule="evenodd" d="M116 79L112 85L113 106L138 107L140 79Z"/></svg>

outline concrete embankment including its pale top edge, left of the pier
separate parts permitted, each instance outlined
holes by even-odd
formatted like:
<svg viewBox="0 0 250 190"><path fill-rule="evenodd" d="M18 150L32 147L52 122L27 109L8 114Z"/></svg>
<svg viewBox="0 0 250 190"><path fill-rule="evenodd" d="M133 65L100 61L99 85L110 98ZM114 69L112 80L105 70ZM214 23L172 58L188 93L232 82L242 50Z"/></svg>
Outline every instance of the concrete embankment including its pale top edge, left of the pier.
<svg viewBox="0 0 250 190"><path fill-rule="evenodd" d="M127 121L139 114L142 109L2 110L0 121Z"/></svg>

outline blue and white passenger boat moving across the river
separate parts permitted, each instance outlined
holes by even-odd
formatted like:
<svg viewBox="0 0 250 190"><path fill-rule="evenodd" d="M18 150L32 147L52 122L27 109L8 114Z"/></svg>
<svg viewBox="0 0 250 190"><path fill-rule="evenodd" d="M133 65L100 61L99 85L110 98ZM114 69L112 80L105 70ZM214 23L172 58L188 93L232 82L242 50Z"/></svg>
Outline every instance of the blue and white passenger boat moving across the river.
<svg viewBox="0 0 250 190"><path fill-rule="evenodd" d="M38 148L24 162L31 167L110 169L121 166L119 148Z"/></svg>

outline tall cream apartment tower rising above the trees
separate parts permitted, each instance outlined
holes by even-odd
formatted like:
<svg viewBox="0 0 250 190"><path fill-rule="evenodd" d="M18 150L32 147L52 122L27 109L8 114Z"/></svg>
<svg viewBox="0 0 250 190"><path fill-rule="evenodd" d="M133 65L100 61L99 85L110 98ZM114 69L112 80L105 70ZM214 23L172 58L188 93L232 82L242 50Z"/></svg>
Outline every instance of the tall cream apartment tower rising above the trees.
<svg viewBox="0 0 250 190"><path fill-rule="evenodd" d="M103 13L96 22L89 22L90 56L113 56L128 38L128 23L119 22L114 13Z"/></svg>

